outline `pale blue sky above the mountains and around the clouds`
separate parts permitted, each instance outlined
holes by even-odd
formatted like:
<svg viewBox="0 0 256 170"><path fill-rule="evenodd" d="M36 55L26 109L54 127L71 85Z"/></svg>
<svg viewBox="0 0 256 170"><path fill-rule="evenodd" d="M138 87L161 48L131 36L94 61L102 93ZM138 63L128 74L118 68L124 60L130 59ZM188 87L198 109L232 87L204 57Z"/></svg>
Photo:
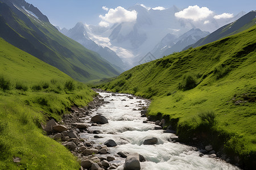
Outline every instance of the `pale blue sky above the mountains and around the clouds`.
<svg viewBox="0 0 256 170"><path fill-rule="evenodd" d="M256 2L253 0L234 1L234 0L222 0L222 1L208 1L208 0L147 0L147 1L121 1L121 0L26 0L28 3L32 3L35 7L38 7L44 15L47 15L50 22L53 25L59 25L63 28L72 28L77 22L97 25L101 22L100 15L105 15L108 11L103 10L102 6L107 8L116 8L121 6L125 9L139 3L147 7L164 7L169 8L175 5L183 10L188 6L207 7L209 10L216 14L238 14L241 11L249 12L256 10Z"/></svg>

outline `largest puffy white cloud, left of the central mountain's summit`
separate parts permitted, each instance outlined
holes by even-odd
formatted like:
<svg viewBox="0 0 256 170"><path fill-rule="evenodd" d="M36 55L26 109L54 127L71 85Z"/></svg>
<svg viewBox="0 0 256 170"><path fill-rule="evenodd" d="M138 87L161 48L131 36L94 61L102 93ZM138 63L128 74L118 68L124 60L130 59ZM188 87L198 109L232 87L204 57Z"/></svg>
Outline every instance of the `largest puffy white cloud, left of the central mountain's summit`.
<svg viewBox="0 0 256 170"><path fill-rule="evenodd" d="M113 9L110 8L109 12L105 16L99 16L102 20L99 23L102 27L108 27L109 24L122 23L122 22L133 22L137 19L137 12L135 10L128 11L125 8L118 6Z"/></svg>

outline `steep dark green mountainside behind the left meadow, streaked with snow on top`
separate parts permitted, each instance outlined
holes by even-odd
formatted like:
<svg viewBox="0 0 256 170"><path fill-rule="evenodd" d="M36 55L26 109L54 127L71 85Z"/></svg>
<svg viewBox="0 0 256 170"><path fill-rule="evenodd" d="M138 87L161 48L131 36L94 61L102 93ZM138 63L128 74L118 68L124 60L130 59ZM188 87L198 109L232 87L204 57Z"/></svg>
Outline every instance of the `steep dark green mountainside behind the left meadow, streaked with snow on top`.
<svg viewBox="0 0 256 170"><path fill-rule="evenodd" d="M38 8L23 0L1 0L0 37L82 82L119 74L98 53L64 36Z"/></svg>

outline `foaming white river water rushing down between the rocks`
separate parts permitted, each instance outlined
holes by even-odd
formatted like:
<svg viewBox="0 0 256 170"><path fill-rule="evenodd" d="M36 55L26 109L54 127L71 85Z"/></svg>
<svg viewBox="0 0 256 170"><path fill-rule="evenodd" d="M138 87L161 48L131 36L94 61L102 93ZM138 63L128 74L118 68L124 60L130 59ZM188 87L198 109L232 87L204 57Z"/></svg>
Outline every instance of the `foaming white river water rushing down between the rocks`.
<svg viewBox="0 0 256 170"><path fill-rule="evenodd" d="M148 105L147 100L134 97L129 99L127 94L115 94L100 92L106 104L92 110L90 116L97 113L105 116L109 124L91 126L89 130L100 130L97 134L103 138L94 138L96 134L80 133L81 138L94 141L96 145L103 145L108 139L113 139L118 145L109 147L110 154L99 154L98 156L113 156L114 161L110 163L121 164L118 169L123 169L125 158L117 156L119 151L129 153L137 152L146 158L141 162L141 169L238 169L225 163L220 159L209 158L208 155L199 156L200 152L195 147L170 142L175 134L163 133L163 130L154 130L153 123L143 123L146 117L141 117L139 108ZM125 100L123 100L125 99ZM108 103L109 102L109 103ZM135 111L136 109L136 111ZM134 110L134 111L133 111ZM156 145L143 145L143 141L150 137L158 138Z"/></svg>

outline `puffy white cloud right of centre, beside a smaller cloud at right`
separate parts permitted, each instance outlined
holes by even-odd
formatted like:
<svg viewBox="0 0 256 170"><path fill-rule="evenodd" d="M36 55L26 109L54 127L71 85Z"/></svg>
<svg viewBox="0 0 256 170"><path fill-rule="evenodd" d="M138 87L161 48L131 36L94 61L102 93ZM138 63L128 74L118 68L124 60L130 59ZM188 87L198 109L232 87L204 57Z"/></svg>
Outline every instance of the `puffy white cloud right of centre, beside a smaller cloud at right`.
<svg viewBox="0 0 256 170"><path fill-rule="evenodd" d="M209 10L207 7L188 6L183 11L175 13L177 18L191 19L193 21L198 21L207 18L213 11Z"/></svg>

